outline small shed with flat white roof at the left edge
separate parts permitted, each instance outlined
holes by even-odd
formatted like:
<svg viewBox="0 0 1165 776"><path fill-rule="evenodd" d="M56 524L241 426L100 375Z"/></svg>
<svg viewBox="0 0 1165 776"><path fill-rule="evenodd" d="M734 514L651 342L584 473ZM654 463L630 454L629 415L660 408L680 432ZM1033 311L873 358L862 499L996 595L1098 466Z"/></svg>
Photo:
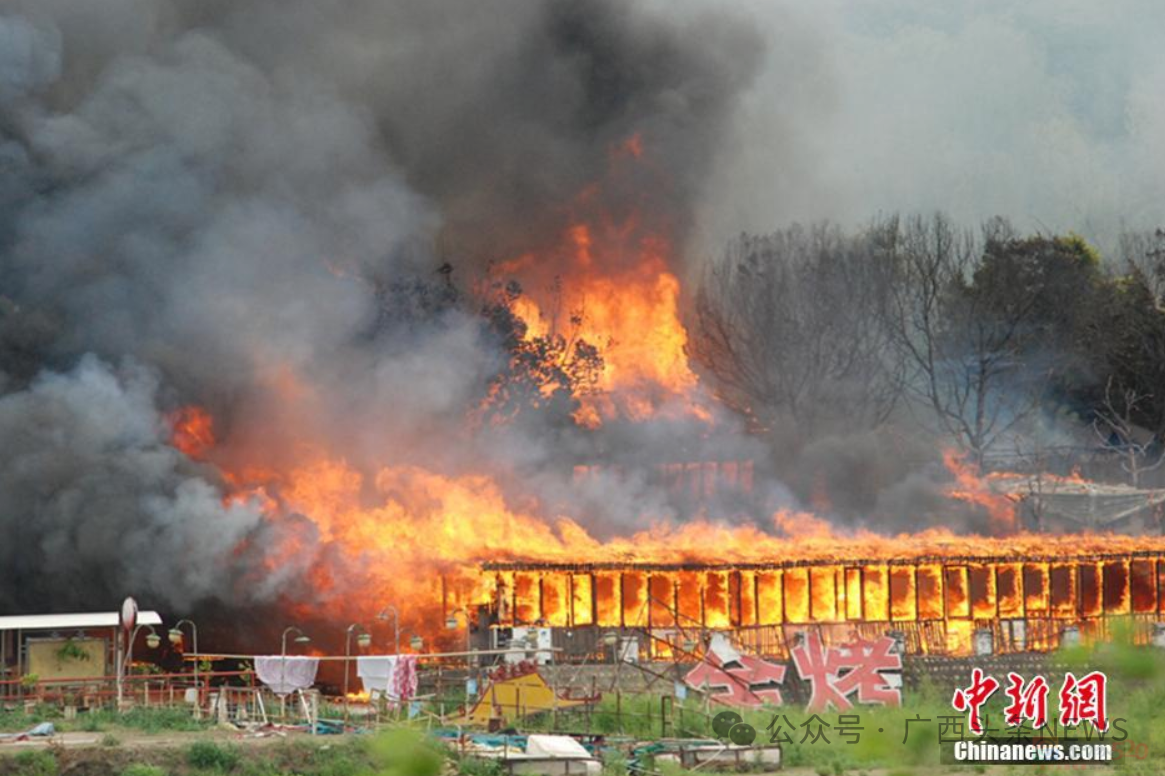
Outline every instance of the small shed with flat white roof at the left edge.
<svg viewBox="0 0 1165 776"><path fill-rule="evenodd" d="M160 626L157 612L139 612L137 623ZM0 616L0 694L13 679L41 680L112 676L121 642L116 612Z"/></svg>

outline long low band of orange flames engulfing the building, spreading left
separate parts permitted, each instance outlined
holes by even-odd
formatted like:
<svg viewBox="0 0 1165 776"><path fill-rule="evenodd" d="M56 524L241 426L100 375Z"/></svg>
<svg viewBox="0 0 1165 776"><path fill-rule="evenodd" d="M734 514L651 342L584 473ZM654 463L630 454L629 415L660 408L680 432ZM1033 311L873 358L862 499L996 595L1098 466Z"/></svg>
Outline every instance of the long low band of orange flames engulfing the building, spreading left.
<svg viewBox="0 0 1165 776"><path fill-rule="evenodd" d="M188 454L231 458L213 447L205 410L185 408L171 423L175 445ZM939 528L885 536L839 530L796 510L779 510L768 524L659 523L599 539L570 516L551 518L536 505L510 503L485 473L447 475L422 466L366 472L323 450L302 449L295 456L299 463L287 471L224 471L232 488L227 499L259 505L271 523L288 529L281 543L267 548L270 570L296 557L315 558L309 570L313 600L289 607L297 615L326 611L345 622L370 622L393 604L405 632L421 634L432 648L456 647L464 637L445 628L444 613L475 612L502 590L511 597L508 616L518 622L645 628L697 613L704 627L714 629L767 625L772 615L765 613L772 612L781 612L783 622L822 626L871 618L949 621L944 649L966 651L970 623L984 619L1155 608L1151 558L1123 565L1058 558L1165 553L1163 537L1031 534L1015 530L1010 521L996 536ZM1011 502L990 489L990 478L953 456L946 460L956 477L951 498L1011 513ZM570 566L580 559L608 570L569 577L480 573L482 563ZM763 570L775 563L793 565ZM666 576L622 571L643 564L729 567ZM741 569L750 564L755 570Z"/></svg>

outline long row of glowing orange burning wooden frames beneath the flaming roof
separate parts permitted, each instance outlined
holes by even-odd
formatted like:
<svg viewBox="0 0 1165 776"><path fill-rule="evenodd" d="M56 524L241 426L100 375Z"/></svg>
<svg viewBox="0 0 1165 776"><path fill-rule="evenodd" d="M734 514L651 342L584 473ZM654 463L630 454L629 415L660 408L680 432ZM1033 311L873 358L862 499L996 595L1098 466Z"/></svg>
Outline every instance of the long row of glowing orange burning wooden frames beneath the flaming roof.
<svg viewBox="0 0 1165 776"><path fill-rule="evenodd" d="M826 642L897 632L908 654L1047 650L1103 639L1115 619L1148 640L1165 619L1165 552L918 557L771 564L486 563L495 627L638 632L671 658L692 634L732 632L785 657L800 632ZM557 641L557 640L556 640ZM596 643L576 640L577 643ZM569 646L569 644L566 644Z"/></svg>

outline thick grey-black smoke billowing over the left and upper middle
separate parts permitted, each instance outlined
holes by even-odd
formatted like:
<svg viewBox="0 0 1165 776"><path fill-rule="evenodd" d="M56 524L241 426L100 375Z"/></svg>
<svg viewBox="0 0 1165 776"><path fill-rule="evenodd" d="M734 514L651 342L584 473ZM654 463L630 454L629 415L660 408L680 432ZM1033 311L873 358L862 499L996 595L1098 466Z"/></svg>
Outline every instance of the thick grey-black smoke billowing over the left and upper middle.
<svg viewBox="0 0 1165 776"><path fill-rule="evenodd" d="M310 438L517 473L612 528L675 516L635 477L571 494L569 463L687 435L467 436L504 351L386 289L439 297L451 261L464 291L550 239L634 133L645 171L607 206L650 196L682 242L760 56L726 14L619 1L0 1L0 608L287 592L310 557L254 576L278 537L169 444L189 403L241 451Z"/></svg>

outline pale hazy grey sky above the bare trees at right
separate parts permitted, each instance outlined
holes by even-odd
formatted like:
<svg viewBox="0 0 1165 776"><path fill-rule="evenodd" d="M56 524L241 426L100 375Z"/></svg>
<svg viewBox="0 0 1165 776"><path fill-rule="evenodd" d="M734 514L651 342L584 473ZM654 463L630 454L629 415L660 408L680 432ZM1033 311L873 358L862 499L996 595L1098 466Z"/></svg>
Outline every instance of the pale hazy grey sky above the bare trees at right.
<svg viewBox="0 0 1165 776"><path fill-rule="evenodd" d="M707 198L716 240L896 210L1101 241L1165 225L1165 3L740 7L769 47Z"/></svg>

